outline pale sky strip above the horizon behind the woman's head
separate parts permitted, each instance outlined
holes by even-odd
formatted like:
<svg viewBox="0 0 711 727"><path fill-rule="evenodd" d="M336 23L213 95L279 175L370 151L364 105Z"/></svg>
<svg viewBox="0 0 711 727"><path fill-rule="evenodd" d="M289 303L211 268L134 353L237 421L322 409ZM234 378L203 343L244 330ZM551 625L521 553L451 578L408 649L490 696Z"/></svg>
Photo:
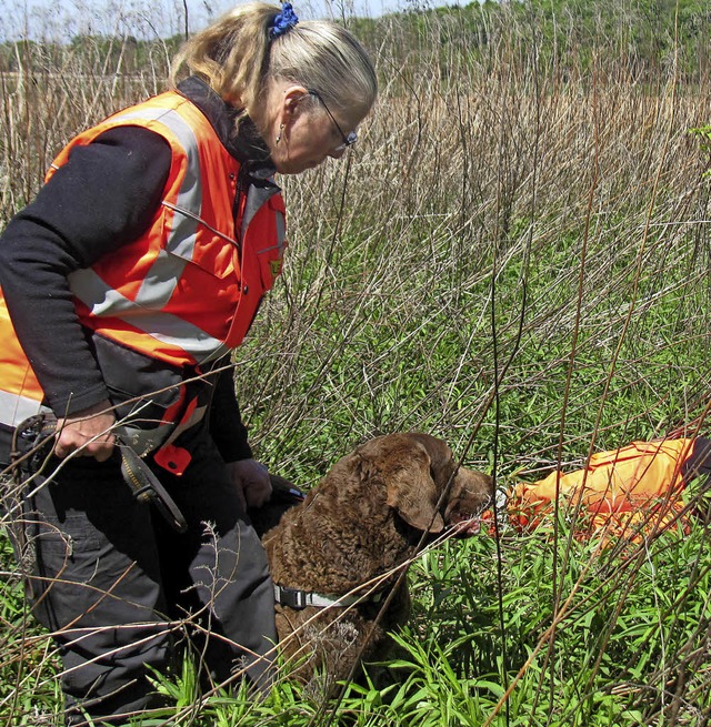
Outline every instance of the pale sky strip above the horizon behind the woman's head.
<svg viewBox="0 0 711 727"><path fill-rule="evenodd" d="M61 40L79 34L168 37L199 30L243 0L0 0L0 39ZM276 3L276 0L272 0ZM302 18L341 18L444 4L443 0L292 0Z"/></svg>

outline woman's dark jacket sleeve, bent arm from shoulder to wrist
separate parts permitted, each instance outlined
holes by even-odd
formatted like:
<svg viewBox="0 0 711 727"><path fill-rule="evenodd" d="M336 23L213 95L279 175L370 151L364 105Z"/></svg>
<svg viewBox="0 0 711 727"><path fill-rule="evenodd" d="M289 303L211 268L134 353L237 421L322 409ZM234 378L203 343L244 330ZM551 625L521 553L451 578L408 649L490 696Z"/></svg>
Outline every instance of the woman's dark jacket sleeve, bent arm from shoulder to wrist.
<svg viewBox="0 0 711 727"><path fill-rule="evenodd" d="M58 416L107 398L67 276L136 239L162 198L171 152L138 127L107 131L67 163L0 238L0 284L18 339Z"/></svg>

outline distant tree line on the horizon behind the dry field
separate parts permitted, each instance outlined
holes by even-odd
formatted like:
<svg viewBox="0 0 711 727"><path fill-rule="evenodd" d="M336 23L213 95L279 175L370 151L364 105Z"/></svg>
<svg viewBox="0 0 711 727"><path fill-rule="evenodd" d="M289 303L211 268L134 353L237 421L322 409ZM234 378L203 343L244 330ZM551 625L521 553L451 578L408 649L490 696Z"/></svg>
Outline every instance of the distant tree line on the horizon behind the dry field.
<svg viewBox="0 0 711 727"><path fill-rule="evenodd" d="M539 63L563 75L571 69L584 72L595 53L625 64L641 80L669 69L681 81L699 83L709 78L711 63L708 0L485 0L434 9L413 0L401 12L343 22L370 49L387 46L389 60L403 64L429 53L432 44L440 49L442 67L452 60L487 63L500 58L494 50L502 43L511 46L512 59L535 53ZM150 67L156 73L182 40L181 34L77 36L67 43L6 40L0 72L87 68L132 75Z"/></svg>

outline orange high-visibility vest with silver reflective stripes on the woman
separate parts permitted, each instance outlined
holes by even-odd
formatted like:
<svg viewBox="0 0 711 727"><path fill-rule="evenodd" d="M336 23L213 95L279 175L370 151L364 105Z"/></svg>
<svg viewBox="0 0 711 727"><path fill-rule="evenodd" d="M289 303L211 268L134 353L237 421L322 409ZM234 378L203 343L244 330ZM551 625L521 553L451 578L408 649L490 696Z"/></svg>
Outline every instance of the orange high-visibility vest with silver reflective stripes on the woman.
<svg viewBox="0 0 711 727"><path fill-rule="evenodd" d="M57 156L47 181L74 147L121 125L162 135L172 150L171 168L148 230L69 275L79 319L173 366L213 361L242 342L281 271L286 224L279 188L250 186L238 199L240 163L202 112L173 91L79 134ZM43 393L1 292L0 340L0 422L14 426L44 408Z"/></svg>

